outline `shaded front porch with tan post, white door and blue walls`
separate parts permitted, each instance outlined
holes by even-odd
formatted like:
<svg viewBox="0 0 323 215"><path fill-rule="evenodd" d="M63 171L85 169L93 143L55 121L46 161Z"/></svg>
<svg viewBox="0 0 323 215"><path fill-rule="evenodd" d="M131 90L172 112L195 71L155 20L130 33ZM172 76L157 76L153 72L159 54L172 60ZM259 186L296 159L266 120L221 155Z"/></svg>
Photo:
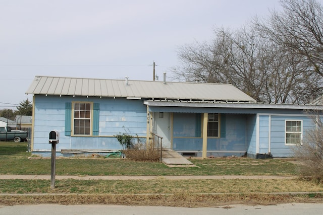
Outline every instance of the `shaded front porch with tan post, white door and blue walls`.
<svg viewBox="0 0 323 215"><path fill-rule="evenodd" d="M152 116L151 132L163 137L163 148L172 149L183 156L242 157L246 156L250 143L254 140L255 114L149 114ZM214 120L212 116L213 121L210 122L209 114L216 114L217 117Z"/></svg>

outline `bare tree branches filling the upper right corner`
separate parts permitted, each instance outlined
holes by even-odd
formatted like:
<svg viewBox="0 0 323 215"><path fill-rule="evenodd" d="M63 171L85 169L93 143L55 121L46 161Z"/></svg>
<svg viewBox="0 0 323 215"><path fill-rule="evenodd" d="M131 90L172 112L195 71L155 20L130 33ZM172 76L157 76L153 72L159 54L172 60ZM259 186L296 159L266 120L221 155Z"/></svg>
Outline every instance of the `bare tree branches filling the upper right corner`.
<svg viewBox="0 0 323 215"><path fill-rule="evenodd" d="M283 11L254 19L256 29L323 76L323 7L315 0L282 0Z"/></svg>

